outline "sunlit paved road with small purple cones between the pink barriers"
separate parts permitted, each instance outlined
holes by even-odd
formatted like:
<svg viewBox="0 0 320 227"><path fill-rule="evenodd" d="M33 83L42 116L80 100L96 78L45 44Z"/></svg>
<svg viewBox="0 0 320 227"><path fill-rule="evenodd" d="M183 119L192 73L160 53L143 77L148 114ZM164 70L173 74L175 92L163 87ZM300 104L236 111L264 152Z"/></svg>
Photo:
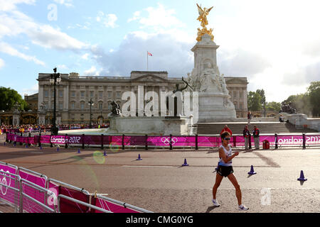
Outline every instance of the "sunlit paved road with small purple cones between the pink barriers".
<svg viewBox="0 0 320 227"><path fill-rule="evenodd" d="M154 212L239 212L235 189L224 178L221 206L211 203L218 150L102 150L4 146L0 161L41 172L89 192L108 194ZM240 150L233 160L247 212L320 212L320 149ZM137 161L138 155L142 160ZM181 167L184 159L188 167ZM247 172L253 165L257 175ZM297 181L300 171L308 179Z"/></svg>

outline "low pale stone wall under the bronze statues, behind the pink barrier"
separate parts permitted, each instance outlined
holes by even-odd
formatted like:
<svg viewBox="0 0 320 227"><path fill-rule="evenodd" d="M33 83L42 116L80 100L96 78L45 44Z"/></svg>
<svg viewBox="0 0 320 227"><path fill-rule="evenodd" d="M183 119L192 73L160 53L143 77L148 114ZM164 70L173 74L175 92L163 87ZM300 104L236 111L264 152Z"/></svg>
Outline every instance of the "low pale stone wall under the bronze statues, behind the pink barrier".
<svg viewBox="0 0 320 227"><path fill-rule="evenodd" d="M185 116L110 116L107 134L188 135L188 118Z"/></svg>

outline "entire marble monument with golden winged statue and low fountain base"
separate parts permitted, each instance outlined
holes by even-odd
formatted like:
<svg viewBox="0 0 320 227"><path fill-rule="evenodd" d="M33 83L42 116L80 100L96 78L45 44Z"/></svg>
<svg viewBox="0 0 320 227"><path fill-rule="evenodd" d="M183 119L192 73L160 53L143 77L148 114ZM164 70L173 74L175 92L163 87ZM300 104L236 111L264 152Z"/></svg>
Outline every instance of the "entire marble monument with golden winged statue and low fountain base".
<svg viewBox="0 0 320 227"><path fill-rule="evenodd" d="M198 28L196 38L198 43L191 49L194 52L194 68L191 73L188 73L186 80L182 77L183 82L186 83L185 87L181 89L176 86L174 91L165 95L161 92L161 116L157 114L159 108L154 102L158 100L158 94L147 93L144 96L142 87L142 93L138 91L138 111L133 103L136 100L134 93L129 94L130 100L127 101L129 104L123 105L122 111L115 102L113 103L112 113L108 116L110 128L60 131L60 134L192 135L193 123L236 118L235 106L230 101L225 79L218 70L216 50L219 46L213 41L213 28L209 30L206 28L207 16L211 9L213 7L202 9L198 6L198 21L201 21L202 29ZM191 93L192 96L190 96ZM149 99L151 96L153 96L151 105L143 106L144 99ZM122 100L126 101L127 97L123 95ZM191 101L192 111L190 111ZM130 106L130 111L124 110L124 106ZM151 111L151 106L154 111ZM126 113L122 114L124 111ZM151 115L150 112L154 114Z"/></svg>

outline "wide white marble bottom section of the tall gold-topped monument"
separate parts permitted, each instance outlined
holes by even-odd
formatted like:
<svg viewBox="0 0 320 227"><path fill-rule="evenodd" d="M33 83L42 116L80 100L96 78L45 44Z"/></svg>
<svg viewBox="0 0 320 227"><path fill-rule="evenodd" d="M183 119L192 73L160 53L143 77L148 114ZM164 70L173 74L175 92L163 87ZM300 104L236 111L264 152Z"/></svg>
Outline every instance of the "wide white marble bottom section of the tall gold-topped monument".
<svg viewBox="0 0 320 227"><path fill-rule="evenodd" d="M198 122L228 121L237 118L235 106L228 101L228 97L226 94L199 92Z"/></svg>

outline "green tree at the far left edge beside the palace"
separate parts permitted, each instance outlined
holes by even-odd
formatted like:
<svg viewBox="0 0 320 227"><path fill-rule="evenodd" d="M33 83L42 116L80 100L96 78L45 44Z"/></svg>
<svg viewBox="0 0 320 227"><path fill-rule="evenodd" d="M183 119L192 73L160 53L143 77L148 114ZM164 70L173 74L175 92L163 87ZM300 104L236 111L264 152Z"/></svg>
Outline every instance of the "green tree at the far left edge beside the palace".
<svg viewBox="0 0 320 227"><path fill-rule="evenodd" d="M2 111L10 111L14 104L20 104L20 110L28 109L28 104L24 101L16 90L6 87L0 87L0 110Z"/></svg>

